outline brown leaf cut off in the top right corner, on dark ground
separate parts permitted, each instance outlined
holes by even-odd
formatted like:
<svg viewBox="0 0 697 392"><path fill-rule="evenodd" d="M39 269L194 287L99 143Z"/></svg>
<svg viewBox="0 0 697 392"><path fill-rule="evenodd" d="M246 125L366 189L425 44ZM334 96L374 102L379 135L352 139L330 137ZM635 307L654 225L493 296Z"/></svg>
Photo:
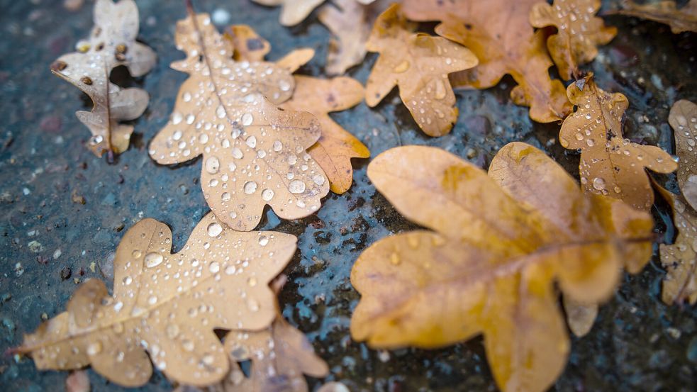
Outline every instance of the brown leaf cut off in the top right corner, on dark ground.
<svg viewBox="0 0 697 392"><path fill-rule="evenodd" d="M637 4L634 1L625 0L622 8L615 12L667 24L674 34L697 31L697 1L694 0L688 1L681 9L678 9L675 1L672 0L650 4Z"/></svg>

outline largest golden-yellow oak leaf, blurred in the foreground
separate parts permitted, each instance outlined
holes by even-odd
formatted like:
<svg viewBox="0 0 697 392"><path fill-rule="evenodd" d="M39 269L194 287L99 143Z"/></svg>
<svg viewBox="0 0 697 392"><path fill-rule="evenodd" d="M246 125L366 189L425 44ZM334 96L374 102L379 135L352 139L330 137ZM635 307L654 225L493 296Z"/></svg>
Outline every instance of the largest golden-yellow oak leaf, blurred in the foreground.
<svg viewBox="0 0 697 392"><path fill-rule="evenodd" d="M504 146L489 175L443 150L407 146L376 157L368 177L430 230L386 237L357 259L352 337L430 348L484 334L503 391L546 391L564 369L569 338L555 287L603 301L623 264L637 272L652 254L649 214L584 194L524 143Z"/></svg>

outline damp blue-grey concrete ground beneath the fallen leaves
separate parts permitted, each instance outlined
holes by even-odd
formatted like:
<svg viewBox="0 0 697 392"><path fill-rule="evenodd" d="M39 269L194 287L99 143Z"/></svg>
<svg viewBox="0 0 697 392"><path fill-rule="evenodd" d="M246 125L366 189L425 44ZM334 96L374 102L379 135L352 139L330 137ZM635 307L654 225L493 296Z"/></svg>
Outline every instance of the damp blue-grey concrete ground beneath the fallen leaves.
<svg viewBox="0 0 697 392"><path fill-rule="evenodd" d="M60 313L76 279L103 278L101 267L107 268L135 222L150 217L167 223L177 250L208 212L198 183L200 158L164 167L147 155L147 143L167 122L186 78L169 68L183 57L173 40L174 24L185 16L182 3L138 1L139 38L158 60L152 72L131 83L147 90L150 106L134 122L130 149L108 164L84 147L89 132L74 116L89 102L49 71L55 58L88 35L91 1L70 12L58 0L0 0L0 352L19 345L42 317ZM323 74L330 35L316 13L284 28L277 23L279 9L247 0L195 3L199 11L218 10L222 21L229 17L228 23L257 29L272 43L271 60L313 47L316 57L299 73ZM610 16L606 22L618 27L618 36L585 69L595 72L601 88L628 96L626 137L674 152L667 116L674 101L697 101L697 35L674 35L667 26L635 18ZM349 74L365 82L375 58L369 55ZM442 138L418 130L394 91L377 108L361 103L332 117L373 156L397 145L431 145L486 168L499 147L520 140L576 175L579 156L557 142L559 125L532 123L527 108L508 98L513 86L507 77L492 89L458 92L457 125ZM299 237L279 298L284 316L328 362L326 380L341 381L351 391L496 391L481 338L445 349L390 352L351 340L350 316L359 300L349 281L353 262L381 237L414 228L370 184L367 163L355 160L352 189L330 194L316 215L281 222L267 213L264 230ZM673 177L659 181L676 190ZM674 230L665 206L659 203L654 213L659 238L670 242ZM552 391L697 390L697 309L664 305L663 276L656 254L640 274L624 276L589 335L573 339L569 363ZM62 391L66 376L37 371L28 358L0 357L3 391ZM91 370L89 378L93 391L121 390ZM320 384L309 381L312 388ZM138 388L170 389L157 373Z"/></svg>

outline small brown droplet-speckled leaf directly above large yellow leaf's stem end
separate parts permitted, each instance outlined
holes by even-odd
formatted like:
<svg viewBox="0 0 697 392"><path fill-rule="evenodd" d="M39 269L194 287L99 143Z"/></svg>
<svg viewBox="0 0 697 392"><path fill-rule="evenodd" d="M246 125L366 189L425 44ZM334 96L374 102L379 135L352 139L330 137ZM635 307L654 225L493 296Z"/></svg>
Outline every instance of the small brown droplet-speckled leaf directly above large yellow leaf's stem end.
<svg viewBox="0 0 697 392"><path fill-rule="evenodd" d="M578 110L564 120L559 142L581 151L581 186L649 211L654 193L645 169L670 173L676 162L659 147L623 138L622 117L629 105L623 94L598 88L592 75L570 84L567 94Z"/></svg>

